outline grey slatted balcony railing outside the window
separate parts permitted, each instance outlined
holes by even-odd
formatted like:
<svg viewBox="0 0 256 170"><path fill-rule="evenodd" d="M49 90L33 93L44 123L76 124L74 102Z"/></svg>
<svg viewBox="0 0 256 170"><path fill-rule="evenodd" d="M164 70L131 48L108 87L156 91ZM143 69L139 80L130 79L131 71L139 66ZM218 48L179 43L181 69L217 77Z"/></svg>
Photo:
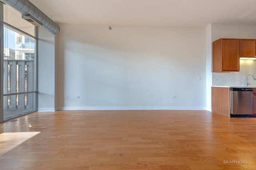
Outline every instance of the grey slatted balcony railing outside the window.
<svg viewBox="0 0 256 170"><path fill-rule="evenodd" d="M4 60L4 110L34 110L34 75L34 60Z"/></svg>

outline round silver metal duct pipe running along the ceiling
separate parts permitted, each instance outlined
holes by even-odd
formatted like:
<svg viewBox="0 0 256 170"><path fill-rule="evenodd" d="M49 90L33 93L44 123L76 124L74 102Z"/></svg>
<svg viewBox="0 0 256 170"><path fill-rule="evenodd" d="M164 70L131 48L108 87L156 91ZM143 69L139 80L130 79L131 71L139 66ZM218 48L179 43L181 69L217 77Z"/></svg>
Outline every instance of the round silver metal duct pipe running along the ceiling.
<svg viewBox="0 0 256 170"><path fill-rule="evenodd" d="M60 31L60 26L51 20L46 14L39 10L29 0L0 0L9 6L12 6L15 10L22 15L30 15L42 22L42 27L48 30L52 34L57 34Z"/></svg>

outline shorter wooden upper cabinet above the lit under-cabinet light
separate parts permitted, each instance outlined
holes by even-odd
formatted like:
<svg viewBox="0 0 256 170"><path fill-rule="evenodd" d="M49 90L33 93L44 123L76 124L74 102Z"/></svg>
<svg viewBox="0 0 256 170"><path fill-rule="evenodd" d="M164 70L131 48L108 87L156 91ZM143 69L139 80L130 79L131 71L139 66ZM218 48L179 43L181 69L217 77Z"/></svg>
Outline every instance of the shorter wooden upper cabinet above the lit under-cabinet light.
<svg viewBox="0 0 256 170"><path fill-rule="evenodd" d="M256 39L240 39L240 57L256 56Z"/></svg>

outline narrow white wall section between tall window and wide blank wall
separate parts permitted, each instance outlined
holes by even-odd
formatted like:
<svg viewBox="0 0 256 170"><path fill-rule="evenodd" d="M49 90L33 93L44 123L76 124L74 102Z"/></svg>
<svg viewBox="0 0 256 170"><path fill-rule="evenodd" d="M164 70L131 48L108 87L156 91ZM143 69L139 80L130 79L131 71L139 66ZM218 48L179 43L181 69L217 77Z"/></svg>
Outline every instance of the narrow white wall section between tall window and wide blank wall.
<svg viewBox="0 0 256 170"><path fill-rule="evenodd" d="M38 31L38 111L55 111L55 37Z"/></svg>

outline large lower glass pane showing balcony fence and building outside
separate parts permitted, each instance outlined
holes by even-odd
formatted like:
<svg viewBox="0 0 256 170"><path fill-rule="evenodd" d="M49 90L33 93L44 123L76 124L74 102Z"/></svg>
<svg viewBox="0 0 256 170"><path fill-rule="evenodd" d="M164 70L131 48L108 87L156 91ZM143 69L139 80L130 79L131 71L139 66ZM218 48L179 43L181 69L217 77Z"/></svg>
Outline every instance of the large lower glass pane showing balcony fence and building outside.
<svg viewBox="0 0 256 170"><path fill-rule="evenodd" d="M4 120L34 111L35 39L4 24Z"/></svg>

